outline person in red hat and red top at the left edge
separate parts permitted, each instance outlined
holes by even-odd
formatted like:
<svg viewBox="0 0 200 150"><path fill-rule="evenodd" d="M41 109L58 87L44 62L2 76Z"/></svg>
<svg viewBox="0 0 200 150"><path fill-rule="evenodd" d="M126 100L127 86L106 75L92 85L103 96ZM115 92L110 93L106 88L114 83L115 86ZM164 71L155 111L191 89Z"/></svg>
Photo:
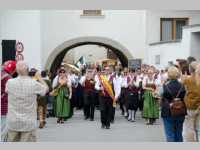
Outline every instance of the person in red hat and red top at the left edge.
<svg viewBox="0 0 200 150"><path fill-rule="evenodd" d="M12 79L16 69L15 61L6 61L1 70L1 132L5 128L5 119L8 112L8 95L5 92L6 83ZM2 134L3 136L3 134ZM3 137L2 137L3 139Z"/></svg>

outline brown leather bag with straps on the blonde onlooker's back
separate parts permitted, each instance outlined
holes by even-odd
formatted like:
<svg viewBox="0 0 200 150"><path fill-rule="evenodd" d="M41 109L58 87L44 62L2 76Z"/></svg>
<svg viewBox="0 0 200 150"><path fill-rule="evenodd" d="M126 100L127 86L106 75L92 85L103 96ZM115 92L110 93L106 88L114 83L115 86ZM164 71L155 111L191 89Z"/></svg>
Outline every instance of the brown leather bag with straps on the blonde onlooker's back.
<svg viewBox="0 0 200 150"><path fill-rule="evenodd" d="M169 91L170 95L172 96L169 87L168 86L166 86L166 87L167 87L167 90ZM169 105L172 117L178 117L178 116L183 116L183 115L187 114L187 109L186 109L184 101L181 101L181 99L178 98L180 93L181 93L182 88L183 88L183 86L181 86L176 97L172 96L173 99L172 99L172 102Z"/></svg>

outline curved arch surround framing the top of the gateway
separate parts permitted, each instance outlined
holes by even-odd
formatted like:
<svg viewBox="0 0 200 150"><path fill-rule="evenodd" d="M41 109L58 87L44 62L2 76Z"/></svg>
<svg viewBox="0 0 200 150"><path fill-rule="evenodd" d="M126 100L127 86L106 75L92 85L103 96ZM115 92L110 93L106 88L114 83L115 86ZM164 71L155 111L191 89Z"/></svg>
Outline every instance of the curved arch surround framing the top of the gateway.
<svg viewBox="0 0 200 150"><path fill-rule="evenodd" d="M100 45L112 50L121 61L123 67L128 66L128 60L133 56L123 45L112 39L105 37L79 37L72 40L65 41L58 47L56 47L47 59L45 69L55 72L57 70L65 56L65 54L71 49L82 45Z"/></svg>

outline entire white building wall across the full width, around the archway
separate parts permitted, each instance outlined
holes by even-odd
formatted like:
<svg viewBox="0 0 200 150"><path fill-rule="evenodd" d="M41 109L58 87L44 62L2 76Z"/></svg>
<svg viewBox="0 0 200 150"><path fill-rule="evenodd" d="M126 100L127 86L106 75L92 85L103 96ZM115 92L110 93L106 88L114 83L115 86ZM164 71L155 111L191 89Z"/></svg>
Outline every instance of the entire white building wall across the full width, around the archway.
<svg viewBox="0 0 200 150"><path fill-rule="evenodd" d="M200 11L107 10L103 11L102 17L81 17L81 13L79 10L0 11L0 40L23 42L25 60L31 67L39 69L44 68L48 56L57 46L86 36L115 40L135 58L144 58L147 63L155 62L155 55L160 54L164 66L175 57L190 55L191 31L185 29L183 44L149 46L160 40L160 18L189 17L190 25L200 24ZM193 49L192 53L198 52Z"/></svg>

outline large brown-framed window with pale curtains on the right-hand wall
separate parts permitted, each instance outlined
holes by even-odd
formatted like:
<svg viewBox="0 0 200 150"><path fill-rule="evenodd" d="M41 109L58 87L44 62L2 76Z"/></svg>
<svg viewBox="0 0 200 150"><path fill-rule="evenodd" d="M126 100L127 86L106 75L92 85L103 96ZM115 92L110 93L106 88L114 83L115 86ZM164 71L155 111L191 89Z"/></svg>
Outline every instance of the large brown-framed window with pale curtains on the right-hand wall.
<svg viewBox="0 0 200 150"><path fill-rule="evenodd" d="M188 25L188 18L161 18L160 40L171 41L182 38L182 28Z"/></svg>

